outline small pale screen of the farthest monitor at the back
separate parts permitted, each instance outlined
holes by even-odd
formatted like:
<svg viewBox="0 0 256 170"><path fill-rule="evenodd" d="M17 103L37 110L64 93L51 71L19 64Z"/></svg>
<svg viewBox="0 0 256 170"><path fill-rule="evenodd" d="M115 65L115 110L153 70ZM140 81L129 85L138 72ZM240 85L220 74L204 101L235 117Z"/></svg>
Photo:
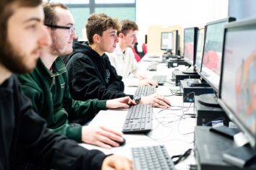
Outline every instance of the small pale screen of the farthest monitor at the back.
<svg viewBox="0 0 256 170"><path fill-rule="evenodd" d="M173 50L174 49L174 35L173 32L161 33L161 50Z"/></svg>

